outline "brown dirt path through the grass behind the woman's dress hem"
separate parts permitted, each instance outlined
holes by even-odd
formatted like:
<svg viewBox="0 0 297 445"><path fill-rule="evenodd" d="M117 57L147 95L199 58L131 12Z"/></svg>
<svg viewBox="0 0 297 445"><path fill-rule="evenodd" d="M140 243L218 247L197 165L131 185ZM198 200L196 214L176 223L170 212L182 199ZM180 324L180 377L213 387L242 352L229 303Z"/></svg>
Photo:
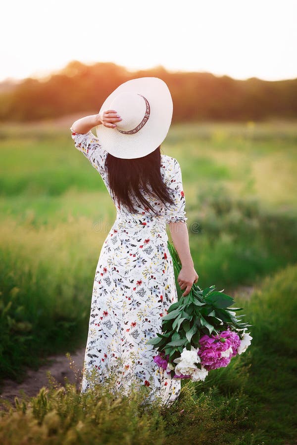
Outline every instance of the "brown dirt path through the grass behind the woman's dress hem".
<svg viewBox="0 0 297 445"><path fill-rule="evenodd" d="M249 299L253 290L254 288L252 286L240 286L233 291L225 289L224 292L228 295L232 295L236 301L237 295L240 295L243 299ZM66 356L66 353L64 355L49 356L48 358L51 363L41 366L38 371L29 369L27 376L22 383L18 384L13 380L5 379L3 381L3 390L0 394L0 400L3 398L13 402L15 396L22 398L20 391L24 391L29 397L36 396L43 386L49 386L49 379L47 376L48 371L50 371L50 374L60 385L64 385L64 377L67 377L69 382L76 383L76 386L79 389L84 356L85 347L80 348L75 354L71 354L70 360ZM72 363L72 361L74 363Z"/></svg>

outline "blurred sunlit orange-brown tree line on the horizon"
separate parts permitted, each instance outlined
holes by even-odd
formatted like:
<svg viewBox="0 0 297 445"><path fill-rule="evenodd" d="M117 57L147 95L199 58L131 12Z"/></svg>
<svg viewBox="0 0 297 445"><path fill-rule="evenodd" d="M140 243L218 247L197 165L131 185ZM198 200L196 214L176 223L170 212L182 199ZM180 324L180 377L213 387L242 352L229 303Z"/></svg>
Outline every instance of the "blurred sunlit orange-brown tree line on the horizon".
<svg viewBox="0 0 297 445"><path fill-rule="evenodd" d="M173 122L262 120L297 116L297 79L235 80L211 73L167 72L162 66L128 71L114 63L72 61L44 79L24 79L0 92L0 121L31 121L76 112L98 112L108 94L123 82L154 76L168 85Z"/></svg>

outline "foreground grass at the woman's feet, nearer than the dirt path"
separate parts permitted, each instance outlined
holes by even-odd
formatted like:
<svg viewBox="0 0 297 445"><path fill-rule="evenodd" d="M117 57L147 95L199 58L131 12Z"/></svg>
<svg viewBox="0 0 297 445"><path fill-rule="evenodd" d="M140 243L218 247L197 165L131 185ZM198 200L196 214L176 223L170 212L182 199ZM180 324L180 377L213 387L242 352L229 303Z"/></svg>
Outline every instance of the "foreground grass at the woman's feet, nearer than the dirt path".
<svg viewBox="0 0 297 445"><path fill-rule="evenodd" d="M113 376L80 394L69 383L59 389L49 374L49 389L37 397L2 403L1 443L296 443L297 299L286 298L296 293L297 266L266 277L245 302L247 351L204 382L183 382L170 408L148 403L147 387L130 397L114 393Z"/></svg>

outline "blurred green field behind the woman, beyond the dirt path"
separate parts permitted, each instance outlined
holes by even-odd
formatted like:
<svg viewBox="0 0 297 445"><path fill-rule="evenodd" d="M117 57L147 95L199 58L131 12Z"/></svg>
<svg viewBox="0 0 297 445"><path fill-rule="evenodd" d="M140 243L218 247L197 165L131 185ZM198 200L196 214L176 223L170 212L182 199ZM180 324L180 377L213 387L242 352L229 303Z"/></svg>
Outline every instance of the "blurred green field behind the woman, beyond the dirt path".
<svg viewBox="0 0 297 445"><path fill-rule="evenodd" d="M202 287L253 285L296 263L296 140L284 122L170 129L162 150L182 167ZM20 380L25 365L85 342L116 212L67 126L1 126L0 151L0 378Z"/></svg>

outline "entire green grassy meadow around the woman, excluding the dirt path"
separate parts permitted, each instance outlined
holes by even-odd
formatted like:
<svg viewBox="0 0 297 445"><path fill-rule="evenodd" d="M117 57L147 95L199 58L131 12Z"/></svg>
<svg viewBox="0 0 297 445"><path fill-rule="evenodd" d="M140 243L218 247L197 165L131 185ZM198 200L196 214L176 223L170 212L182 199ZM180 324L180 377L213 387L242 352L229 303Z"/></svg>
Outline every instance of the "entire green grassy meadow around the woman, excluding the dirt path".
<svg viewBox="0 0 297 445"><path fill-rule="evenodd" d="M71 123L0 126L0 382L87 339L116 211ZM3 404L1 443L19 443L20 431L32 444L296 443L296 122L173 125L162 153L182 168L198 284L245 308L251 346L204 382L183 382L169 410L70 384Z"/></svg>

